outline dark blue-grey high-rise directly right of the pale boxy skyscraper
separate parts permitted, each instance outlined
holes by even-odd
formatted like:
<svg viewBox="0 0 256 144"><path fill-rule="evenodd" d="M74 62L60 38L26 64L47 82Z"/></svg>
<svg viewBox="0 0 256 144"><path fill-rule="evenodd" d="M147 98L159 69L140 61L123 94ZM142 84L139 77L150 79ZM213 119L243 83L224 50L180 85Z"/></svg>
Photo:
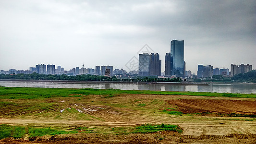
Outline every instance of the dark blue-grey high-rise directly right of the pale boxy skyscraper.
<svg viewBox="0 0 256 144"><path fill-rule="evenodd" d="M159 54L151 53L149 56L149 74L154 76L161 76L161 60Z"/></svg>

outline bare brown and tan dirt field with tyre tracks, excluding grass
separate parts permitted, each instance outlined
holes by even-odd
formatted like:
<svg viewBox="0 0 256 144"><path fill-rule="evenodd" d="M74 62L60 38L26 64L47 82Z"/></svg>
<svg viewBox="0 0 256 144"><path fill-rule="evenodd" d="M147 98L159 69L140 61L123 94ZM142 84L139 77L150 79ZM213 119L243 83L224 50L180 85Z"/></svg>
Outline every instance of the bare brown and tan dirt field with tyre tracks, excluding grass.
<svg viewBox="0 0 256 144"><path fill-rule="evenodd" d="M218 114L256 114L256 99L207 96L128 95L3 99L0 124L73 130L87 127L95 133L46 135L0 144L235 144L256 143L256 119ZM15 103L15 104L12 104ZM43 107L43 108L42 108ZM163 112L181 111L182 115ZM195 113L200 113L195 114ZM137 124L175 124L178 132L118 134L112 128Z"/></svg>

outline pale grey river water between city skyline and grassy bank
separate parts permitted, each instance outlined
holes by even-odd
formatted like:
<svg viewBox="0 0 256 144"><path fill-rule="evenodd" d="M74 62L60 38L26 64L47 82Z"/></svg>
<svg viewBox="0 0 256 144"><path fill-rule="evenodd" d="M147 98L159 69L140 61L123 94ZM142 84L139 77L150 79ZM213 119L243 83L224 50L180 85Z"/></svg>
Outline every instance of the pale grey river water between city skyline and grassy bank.
<svg viewBox="0 0 256 144"><path fill-rule="evenodd" d="M122 90L152 90L152 91L181 91L181 92L218 92L256 94L256 84L209 84L209 85L176 85L176 84L95 84L69 82L17 82L0 81L7 87L46 87L46 88L98 88Z"/></svg>

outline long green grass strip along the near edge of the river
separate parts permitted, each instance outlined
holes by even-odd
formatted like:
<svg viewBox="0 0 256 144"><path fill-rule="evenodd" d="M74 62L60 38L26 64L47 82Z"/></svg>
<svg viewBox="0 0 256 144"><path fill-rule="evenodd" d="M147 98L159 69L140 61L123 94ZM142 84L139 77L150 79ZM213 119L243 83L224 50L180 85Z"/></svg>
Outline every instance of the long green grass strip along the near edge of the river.
<svg viewBox="0 0 256 144"><path fill-rule="evenodd" d="M148 95L187 95L187 96L222 96L256 98L255 94L208 93L208 92L166 92L139 91L120 89L74 89L74 88L35 88L35 87L0 87L0 99L37 99L54 97L81 97L81 95L100 95L111 98L119 94L148 94Z"/></svg>

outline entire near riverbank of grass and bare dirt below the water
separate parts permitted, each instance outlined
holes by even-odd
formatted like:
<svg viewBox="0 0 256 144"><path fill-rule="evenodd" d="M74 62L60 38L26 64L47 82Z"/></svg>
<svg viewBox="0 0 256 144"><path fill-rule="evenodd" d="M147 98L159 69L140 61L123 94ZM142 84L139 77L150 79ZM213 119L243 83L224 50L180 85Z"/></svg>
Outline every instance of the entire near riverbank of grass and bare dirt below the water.
<svg viewBox="0 0 256 144"><path fill-rule="evenodd" d="M256 95L237 96L240 94L0 87L0 126L21 131L16 135L21 139L2 139L0 144L253 143ZM183 131L154 132L149 127L159 125L179 126Z"/></svg>

